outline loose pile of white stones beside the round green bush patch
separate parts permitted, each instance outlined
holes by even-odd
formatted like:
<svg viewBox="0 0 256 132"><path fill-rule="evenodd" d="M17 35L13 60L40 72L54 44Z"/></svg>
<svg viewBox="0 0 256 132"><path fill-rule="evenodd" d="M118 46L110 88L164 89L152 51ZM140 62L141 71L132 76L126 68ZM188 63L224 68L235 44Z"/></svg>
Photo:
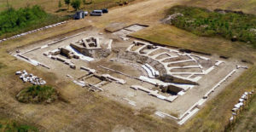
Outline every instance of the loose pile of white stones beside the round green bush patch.
<svg viewBox="0 0 256 132"><path fill-rule="evenodd" d="M40 78L38 76L34 76L33 74L29 74L26 72L26 70L24 70L22 72L18 71L15 74L20 75L20 79L24 83L29 82L34 85L44 85L46 83L42 78Z"/></svg>

